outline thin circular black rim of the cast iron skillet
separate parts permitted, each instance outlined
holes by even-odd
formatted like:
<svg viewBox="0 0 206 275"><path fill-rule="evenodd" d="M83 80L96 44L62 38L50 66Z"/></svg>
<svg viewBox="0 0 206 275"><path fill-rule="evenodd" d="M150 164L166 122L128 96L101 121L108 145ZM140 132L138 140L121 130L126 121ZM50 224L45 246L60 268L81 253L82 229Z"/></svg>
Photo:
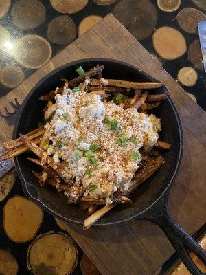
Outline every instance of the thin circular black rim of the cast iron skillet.
<svg viewBox="0 0 206 275"><path fill-rule="evenodd" d="M34 91L36 91L37 87L39 85L41 85L47 78L49 78L50 76L56 74L60 70L65 69L67 67L70 67L72 65L77 65L79 63L85 63L85 62L87 62L87 63L89 63L89 62L95 62L95 63L112 62L112 63L117 63L119 65L126 65L127 67L133 68L136 71L141 72L146 77L148 77L150 80L158 81L157 79L153 78L152 76L150 76L149 74L144 72L142 69L139 69L139 67L137 67L135 65L131 65L131 64L126 63L124 61L117 61L117 60L111 59L111 58L84 58L84 59L80 59L80 60L77 60L77 61L72 61L71 63L67 63L65 65L62 65L62 66L54 69L52 72L50 72L49 74L44 76L40 81L38 81L38 83L36 83L36 85L34 85L34 87L31 89L29 94L27 94L27 96L25 97L25 100L23 100L23 103L21 104L21 108L19 109L19 112L18 112L18 115L17 115L17 118L16 118L16 123L14 125L14 130L13 130L13 138L16 138L18 136L18 126L19 126L19 120L21 118L21 113L23 112L23 109L24 109L25 105L27 104L27 101L30 99L30 97L32 96ZM122 223L126 223L128 221L133 221L135 219L138 219L138 217L140 217L142 214L144 214L144 212L146 212L148 209L152 208L152 206L154 206L155 203L157 203L157 201L159 201L159 199L161 199L161 197L163 197L163 195L165 195L165 193L170 191L172 181L174 181L174 178L176 177L176 175L179 171L179 168L181 166L181 159L182 159L182 156L183 156L183 128L182 128L179 112L177 111L176 106L175 106L175 104L174 104L174 102L173 102L173 100L170 96L168 97L168 100L169 100L170 105L172 107L172 110L175 114L176 121L178 122L178 125L179 125L179 140L180 140L179 155L177 157L178 160L176 162L176 166L174 168L173 175L170 179L170 182L168 183L168 186L165 188L165 190L163 190L161 195L159 195L159 197L153 203L151 203L150 206L148 206L148 208L145 208L144 210L142 210L138 214L134 215L133 217L129 217L127 219L122 219L121 221L113 221L113 222L108 222L108 223L95 223L95 224L92 225L92 228L106 228L106 227L119 225L119 224L122 224ZM62 215L54 212L53 210L48 208L40 199L37 199L36 197L33 197L30 194L30 192L27 192L26 181L25 181L25 179L24 179L24 177L21 173L21 168L19 167L19 158L18 157L14 157L14 163L16 165L16 171L17 171L17 173L18 173L18 175L21 179L21 183L22 183L22 186L23 186L23 191L25 192L25 195L27 195L27 197L29 197L30 199L32 199L33 201L38 203L44 210L49 212L49 214L52 214L52 215L54 215L54 216L56 216L60 219L63 219L64 221L69 222L69 223L73 223L73 224L76 224L76 225L82 225L83 224L82 221L73 221L72 219L65 218Z"/></svg>

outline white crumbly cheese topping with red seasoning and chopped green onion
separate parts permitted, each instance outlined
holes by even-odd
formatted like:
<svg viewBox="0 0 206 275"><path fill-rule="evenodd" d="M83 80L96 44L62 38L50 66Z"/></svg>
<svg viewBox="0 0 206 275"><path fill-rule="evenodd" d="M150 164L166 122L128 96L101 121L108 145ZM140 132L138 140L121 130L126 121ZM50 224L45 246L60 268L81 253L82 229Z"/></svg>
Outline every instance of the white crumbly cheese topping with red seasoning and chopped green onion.
<svg viewBox="0 0 206 275"><path fill-rule="evenodd" d="M56 95L58 107L46 125L52 140L47 155L61 162L68 181L75 179L84 186L84 195L109 201L113 192L130 186L141 162L138 149L157 142L161 122L155 115L102 102L97 94L84 94L67 89Z"/></svg>

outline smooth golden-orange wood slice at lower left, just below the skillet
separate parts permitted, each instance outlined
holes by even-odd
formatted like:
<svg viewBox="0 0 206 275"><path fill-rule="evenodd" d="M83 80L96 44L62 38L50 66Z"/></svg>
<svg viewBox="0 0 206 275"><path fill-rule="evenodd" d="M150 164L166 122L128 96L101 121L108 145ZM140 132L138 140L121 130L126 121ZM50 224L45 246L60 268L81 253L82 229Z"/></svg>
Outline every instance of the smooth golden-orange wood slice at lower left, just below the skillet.
<svg viewBox="0 0 206 275"><path fill-rule="evenodd" d="M3 208L5 234L17 243L30 241L43 221L43 210L25 197L15 196Z"/></svg>

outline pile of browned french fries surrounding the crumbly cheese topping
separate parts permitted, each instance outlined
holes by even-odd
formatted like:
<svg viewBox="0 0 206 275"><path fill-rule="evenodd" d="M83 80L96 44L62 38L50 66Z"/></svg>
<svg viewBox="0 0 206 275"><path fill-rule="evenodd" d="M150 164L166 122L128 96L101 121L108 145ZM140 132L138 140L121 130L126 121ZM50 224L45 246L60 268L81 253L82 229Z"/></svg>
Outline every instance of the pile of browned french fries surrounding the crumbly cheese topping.
<svg viewBox="0 0 206 275"><path fill-rule="evenodd" d="M39 100L46 102L43 110L43 120L49 122L49 120L52 119L57 107L54 100L56 94L61 94L66 89L73 89L77 86L80 91L99 94L102 97L102 100L112 100L117 94L121 94L124 97L122 97L122 100L119 100L119 102L116 102L117 104L124 109L133 107L139 112L144 113L149 109L159 106L161 101L168 97L168 92L163 94L148 94L148 89L159 88L163 83L104 79L102 78L103 69L103 65L97 65L71 81L64 79L63 81L65 81L65 84L62 85L62 87L56 88L55 91L51 91L48 94L41 96ZM87 94L84 96L87 96ZM69 182L66 181L63 176L61 163L55 163L53 158L49 157L49 155L44 151L45 146L49 146L49 142L50 140L47 139L47 133L44 126L40 126L38 129L35 129L26 135L20 135L16 140L0 144L0 150L3 152L0 161L11 159L12 157L16 157L26 151L32 151L38 158L28 157L28 160L41 166L43 169L42 173L32 171L41 186L44 184L54 186L57 190L67 192L68 195L73 192L73 190L76 190L78 193L78 199L69 199L68 203L76 203L77 201L80 201L78 206L80 206L83 211L88 211L90 216L84 220L84 229L90 228L95 221L98 221L98 219L106 214L106 212L115 207L116 204L131 202L128 196L134 192L137 186L153 175L163 164L164 158L157 150L169 150L171 146L166 142L158 140L153 148L149 148L149 150L146 151L143 150L141 152L142 161L128 190L126 192L120 192L117 190L113 195L112 204L106 205L106 199L94 199L89 195L82 196L85 191L84 187L75 184L73 179ZM100 209L97 210L98 208Z"/></svg>

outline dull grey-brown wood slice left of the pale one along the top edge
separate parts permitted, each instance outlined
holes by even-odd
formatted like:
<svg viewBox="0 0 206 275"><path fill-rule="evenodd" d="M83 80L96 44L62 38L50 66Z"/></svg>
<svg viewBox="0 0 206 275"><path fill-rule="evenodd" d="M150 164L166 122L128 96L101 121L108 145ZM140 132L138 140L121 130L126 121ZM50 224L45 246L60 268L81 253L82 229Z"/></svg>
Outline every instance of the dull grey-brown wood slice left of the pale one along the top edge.
<svg viewBox="0 0 206 275"><path fill-rule="evenodd" d="M12 8L14 25L23 30L37 28L45 20L45 15L45 6L38 0L20 0Z"/></svg>

